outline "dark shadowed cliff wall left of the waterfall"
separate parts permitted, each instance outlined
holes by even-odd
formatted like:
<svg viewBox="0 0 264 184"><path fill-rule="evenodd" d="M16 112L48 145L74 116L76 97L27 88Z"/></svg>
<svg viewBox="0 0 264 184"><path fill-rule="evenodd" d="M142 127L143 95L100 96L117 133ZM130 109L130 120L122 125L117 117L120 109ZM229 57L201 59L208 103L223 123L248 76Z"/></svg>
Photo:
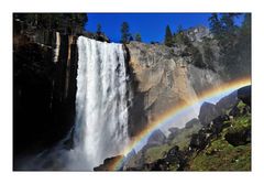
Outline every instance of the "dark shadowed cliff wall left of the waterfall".
<svg viewBox="0 0 264 184"><path fill-rule="evenodd" d="M52 147L73 127L78 61L77 36L18 29L13 42L14 156Z"/></svg>

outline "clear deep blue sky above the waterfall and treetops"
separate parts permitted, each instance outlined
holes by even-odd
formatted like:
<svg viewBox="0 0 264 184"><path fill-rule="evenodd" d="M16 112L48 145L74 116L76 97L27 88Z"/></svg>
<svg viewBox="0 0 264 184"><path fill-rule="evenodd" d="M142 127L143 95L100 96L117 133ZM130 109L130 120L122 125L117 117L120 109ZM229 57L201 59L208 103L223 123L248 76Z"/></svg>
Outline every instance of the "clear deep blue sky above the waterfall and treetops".
<svg viewBox="0 0 264 184"><path fill-rule="evenodd" d="M172 32L176 32L178 25L183 29L196 25L209 26L210 15L211 13L88 13L86 30L96 32L97 24L100 23L102 32L112 42L119 42L121 24L125 21L132 34L141 33L143 42L163 42L167 24ZM241 21L242 19L238 19L237 23L240 24Z"/></svg>

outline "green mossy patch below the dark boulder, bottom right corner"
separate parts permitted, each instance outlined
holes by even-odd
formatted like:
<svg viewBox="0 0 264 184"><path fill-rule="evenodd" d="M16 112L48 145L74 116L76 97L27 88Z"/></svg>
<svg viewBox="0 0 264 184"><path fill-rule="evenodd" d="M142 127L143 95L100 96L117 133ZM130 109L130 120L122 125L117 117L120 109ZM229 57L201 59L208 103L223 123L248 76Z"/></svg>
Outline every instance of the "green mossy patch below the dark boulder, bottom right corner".
<svg viewBox="0 0 264 184"><path fill-rule="evenodd" d="M210 147L190 159L188 170L250 171L251 144L233 147L224 139L215 140Z"/></svg>

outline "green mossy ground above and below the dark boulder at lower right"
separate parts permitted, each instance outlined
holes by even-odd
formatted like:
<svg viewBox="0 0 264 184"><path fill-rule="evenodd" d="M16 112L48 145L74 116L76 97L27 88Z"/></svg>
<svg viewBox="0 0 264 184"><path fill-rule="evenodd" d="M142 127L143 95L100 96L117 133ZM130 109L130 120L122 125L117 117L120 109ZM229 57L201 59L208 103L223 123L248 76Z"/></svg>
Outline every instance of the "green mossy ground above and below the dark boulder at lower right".
<svg viewBox="0 0 264 184"><path fill-rule="evenodd" d="M211 140L210 144L200 153L189 159L191 171L250 171L251 143L234 147L226 140L227 133L239 133L251 128L251 115L242 115L245 105L240 101L237 106L241 115L226 121L231 126L223 129L219 138Z"/></svg>

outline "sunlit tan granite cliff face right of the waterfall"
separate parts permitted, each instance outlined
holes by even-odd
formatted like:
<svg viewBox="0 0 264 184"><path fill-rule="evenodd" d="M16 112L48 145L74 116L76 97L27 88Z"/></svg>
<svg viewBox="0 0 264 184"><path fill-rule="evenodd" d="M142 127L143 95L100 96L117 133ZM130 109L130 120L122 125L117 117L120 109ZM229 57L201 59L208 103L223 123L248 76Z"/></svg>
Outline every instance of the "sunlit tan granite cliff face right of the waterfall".
<svg viewBox="0 0 264 184"><path fill-rule="evenodd" d="M144 128L172 107L194 101L202 90L221 84L217 73L195 67L193 56L183 56L180 47L131 42L127 48L134 80L132 109L136 110L131 113L138 117L135 127ZM138 131L131 126L131 136Z"/></svg>

